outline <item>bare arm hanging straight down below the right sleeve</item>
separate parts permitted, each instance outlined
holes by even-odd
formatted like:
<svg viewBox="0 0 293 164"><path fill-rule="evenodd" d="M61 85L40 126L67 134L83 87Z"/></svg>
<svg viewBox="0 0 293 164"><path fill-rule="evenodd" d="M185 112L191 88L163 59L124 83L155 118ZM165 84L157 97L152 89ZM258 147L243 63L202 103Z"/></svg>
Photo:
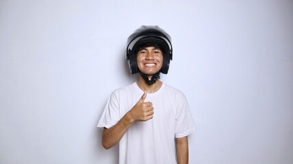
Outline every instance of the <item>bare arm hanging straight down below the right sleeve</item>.
<svg viewBox="0 0 293 164"><path fill-rule="evenodd" d="M188 137L176 138L178 164L188 164Z"/></svg>

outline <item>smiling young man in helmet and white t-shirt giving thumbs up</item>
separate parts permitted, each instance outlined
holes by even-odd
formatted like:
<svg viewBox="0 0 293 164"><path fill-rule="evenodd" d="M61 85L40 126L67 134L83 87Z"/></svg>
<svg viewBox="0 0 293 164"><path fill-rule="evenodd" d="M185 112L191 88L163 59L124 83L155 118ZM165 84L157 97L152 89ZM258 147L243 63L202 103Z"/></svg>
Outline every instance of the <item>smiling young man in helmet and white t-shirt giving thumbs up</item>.
<svg viewBox="0 0 293 164"><path fill-rule="evenodd" d="M160 81L172 59L171 38L142 26L127 39L126 58L139 79L112 92L98 127L105 149L119 143L119 163L188 163L188 135L195 131L184 94Z"/></svg>

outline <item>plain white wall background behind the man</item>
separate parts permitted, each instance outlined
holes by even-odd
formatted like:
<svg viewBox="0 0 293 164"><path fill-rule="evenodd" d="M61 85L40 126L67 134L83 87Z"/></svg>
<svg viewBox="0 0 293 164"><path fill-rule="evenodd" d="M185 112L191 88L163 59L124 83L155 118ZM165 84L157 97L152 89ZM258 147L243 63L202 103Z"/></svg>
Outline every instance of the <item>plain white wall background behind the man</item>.
<svg viewBox="0 0 293 164"><path fill-rule="evenodd" d="M127 37L159 25L188 97L190 163L293 163L293 1L0 1L0 163L117 163L96 128L136 81Z"/></svg>

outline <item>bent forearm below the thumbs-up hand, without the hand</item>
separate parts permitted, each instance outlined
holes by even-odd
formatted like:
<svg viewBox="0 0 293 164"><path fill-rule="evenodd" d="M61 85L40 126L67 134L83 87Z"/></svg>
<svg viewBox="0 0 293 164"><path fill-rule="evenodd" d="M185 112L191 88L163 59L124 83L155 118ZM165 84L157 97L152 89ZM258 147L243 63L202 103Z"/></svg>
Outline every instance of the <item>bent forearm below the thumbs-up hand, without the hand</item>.
<svg viewBox="0 0 293 164"><path fill-rule="evenodd" d="M104 128L102 136L102 145L105 149L110 149L116 145L123 137L127 129L131 126L133 120L129 118L128 113L111 128Z"/></svg>

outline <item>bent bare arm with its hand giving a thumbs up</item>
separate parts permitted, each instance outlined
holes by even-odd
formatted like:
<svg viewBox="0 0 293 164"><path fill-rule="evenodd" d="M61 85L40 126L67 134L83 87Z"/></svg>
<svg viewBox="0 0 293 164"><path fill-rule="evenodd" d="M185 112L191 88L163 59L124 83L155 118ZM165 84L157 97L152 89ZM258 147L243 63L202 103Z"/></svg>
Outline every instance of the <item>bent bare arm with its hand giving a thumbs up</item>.
<svg viewBox="0 0 293 164"><path fill-rule="evenodd" d="M111 128L103 129L102 145L105 149L110 149L115 146L133 122L147 121L153 118L153 104L151 102L144 102L145 98L146 92L144 92L136 105L117 124Z"/></svg>

